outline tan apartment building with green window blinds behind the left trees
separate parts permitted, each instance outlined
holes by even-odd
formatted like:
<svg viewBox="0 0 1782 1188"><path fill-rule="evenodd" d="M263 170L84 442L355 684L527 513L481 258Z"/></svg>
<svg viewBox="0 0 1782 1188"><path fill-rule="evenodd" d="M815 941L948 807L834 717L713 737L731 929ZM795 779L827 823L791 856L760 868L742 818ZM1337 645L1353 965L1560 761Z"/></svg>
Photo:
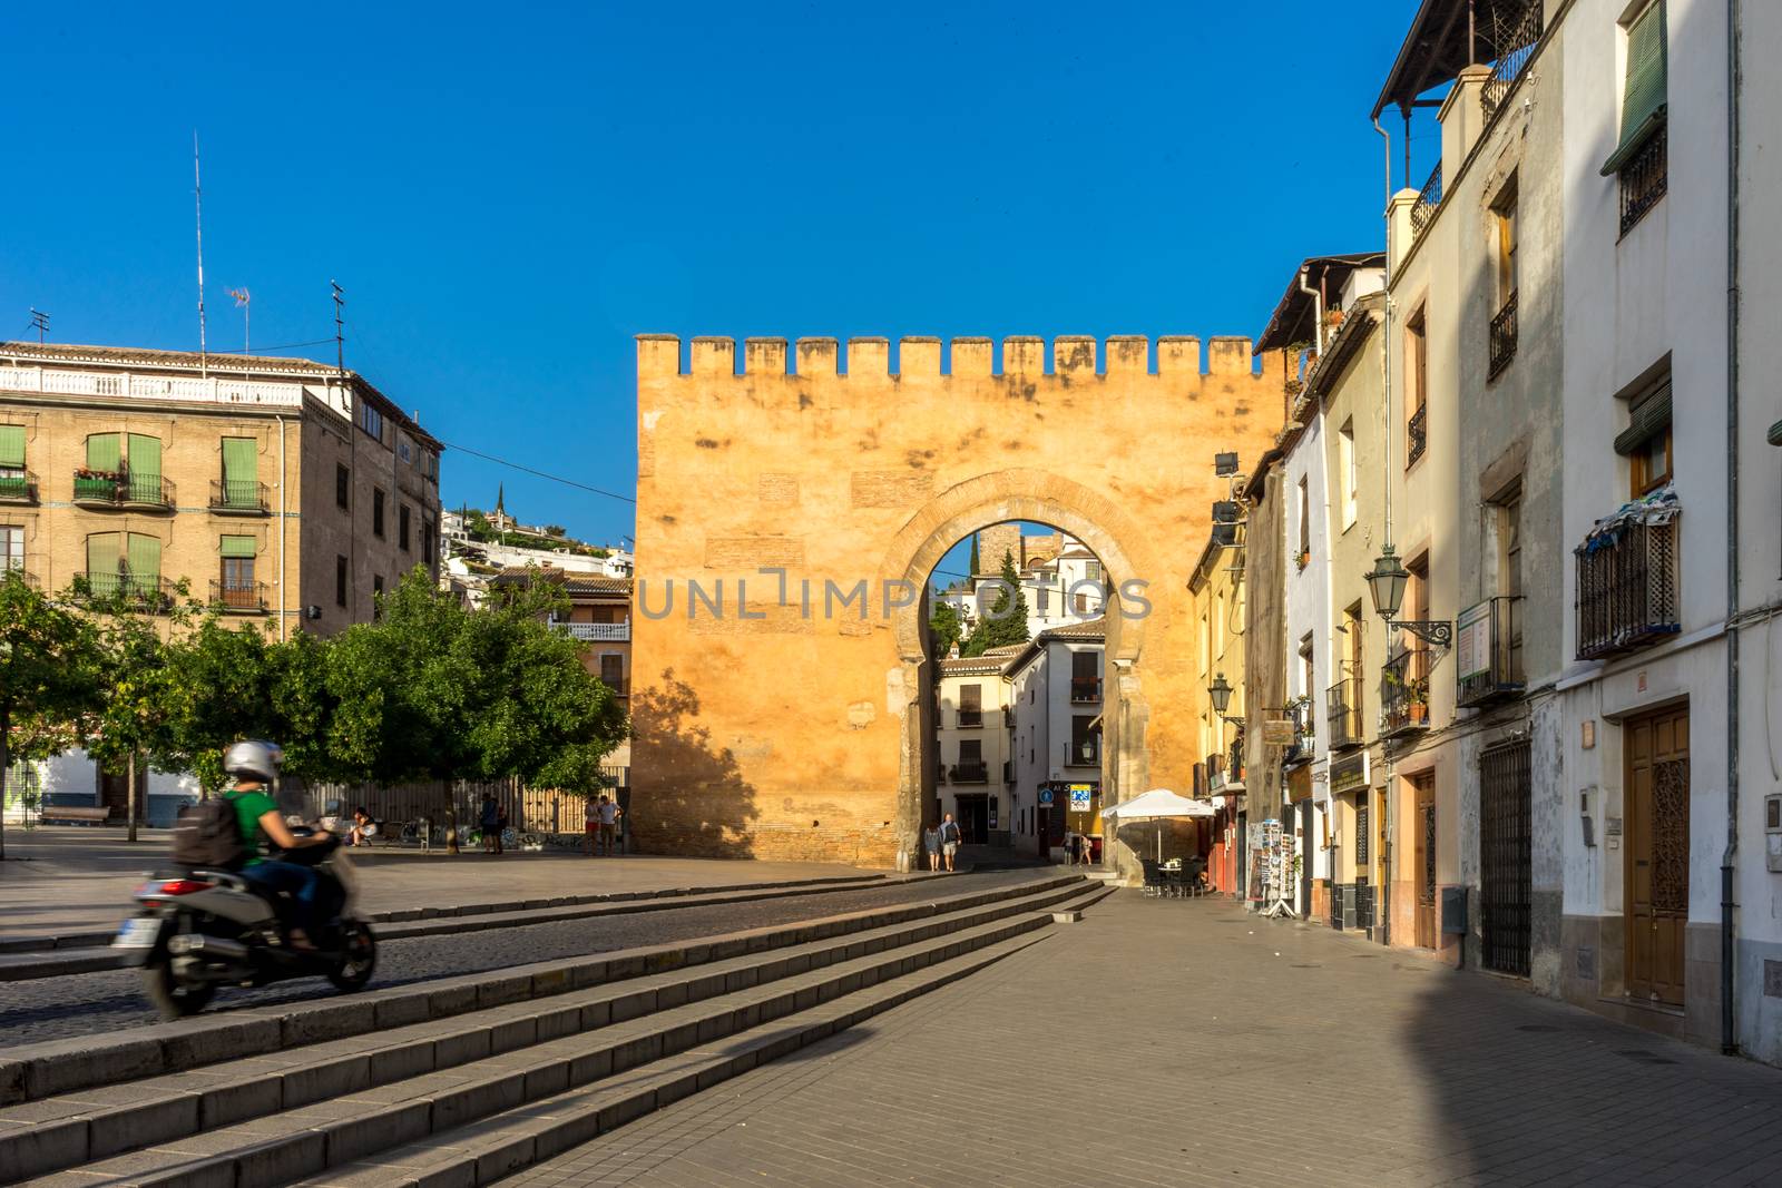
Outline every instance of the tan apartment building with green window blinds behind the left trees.
<svg viewBox="0 0 1782 1188"><path fill-rule="evenodd" d="M335 632L408 570L437 577L440 449L362 376L308 360L5 342L0 563L150 614L184 586L273 638ZM43 791L123 805L121 784L68 757ZM151 814L184 794L144 787Z"/></svg>

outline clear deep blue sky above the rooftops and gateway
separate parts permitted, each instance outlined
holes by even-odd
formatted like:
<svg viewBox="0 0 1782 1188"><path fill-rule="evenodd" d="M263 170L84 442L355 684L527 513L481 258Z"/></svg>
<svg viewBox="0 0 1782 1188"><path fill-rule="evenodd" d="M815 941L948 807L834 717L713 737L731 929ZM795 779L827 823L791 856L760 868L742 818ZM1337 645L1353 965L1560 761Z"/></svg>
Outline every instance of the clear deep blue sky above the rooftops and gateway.
<svg viewBox="0 0 1782 1188"><path fill-rule="evenodd" d="M0 337L326 338L447 443L629 493L638 331L1247 333L1381 240L1415 0L25 5ZM1365 16L1363 16L1365 12ZM331 358L331 344L296 354ZM631 506L449 452L449 504Z"/></svg>

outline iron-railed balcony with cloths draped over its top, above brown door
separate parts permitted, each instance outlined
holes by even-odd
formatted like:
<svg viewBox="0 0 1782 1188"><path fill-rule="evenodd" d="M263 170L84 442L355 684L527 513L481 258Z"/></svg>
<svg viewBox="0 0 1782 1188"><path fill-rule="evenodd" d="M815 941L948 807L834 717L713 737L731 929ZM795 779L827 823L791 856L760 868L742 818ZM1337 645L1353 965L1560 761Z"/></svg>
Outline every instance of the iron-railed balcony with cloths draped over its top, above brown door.
<svg viewBox="0 0 1782 1188"><path fill-rule="evenodd" d="M1636 652L1682 629L1672 517L1598 527L1577 547L1577 659Z"/></svg>

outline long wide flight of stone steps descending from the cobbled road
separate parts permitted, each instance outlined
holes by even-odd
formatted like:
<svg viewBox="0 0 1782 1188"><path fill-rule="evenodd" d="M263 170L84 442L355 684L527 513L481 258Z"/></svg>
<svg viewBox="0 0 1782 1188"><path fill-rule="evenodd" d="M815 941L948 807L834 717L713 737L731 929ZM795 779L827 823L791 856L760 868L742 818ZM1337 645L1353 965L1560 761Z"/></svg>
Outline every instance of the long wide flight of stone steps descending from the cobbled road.
<svg viewBox="0 0 1782 1188"><path fill-rule="evenodd" d="M927 903L0 1049L0 1183L486 1184L991 965L1108 894Z"/></svg>

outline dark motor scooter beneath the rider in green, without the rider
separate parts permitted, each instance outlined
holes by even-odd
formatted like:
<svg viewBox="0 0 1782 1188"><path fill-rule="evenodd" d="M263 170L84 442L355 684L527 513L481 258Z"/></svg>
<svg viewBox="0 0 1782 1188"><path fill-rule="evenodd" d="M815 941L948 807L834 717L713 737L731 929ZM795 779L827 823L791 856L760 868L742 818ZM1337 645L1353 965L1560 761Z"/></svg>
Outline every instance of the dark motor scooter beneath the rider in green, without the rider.
<svg viewBox="0 0 1782 1188"><path fill-rule="evenodd" d="M305 837L314 830L292 826ZM290 948L273 901L232 871L162 867L137 887L137 914L112 948L143 971L143 989L162 1019L201 1012L221 985L264 987L289 978L328 978L360 990L378 964L378 944L353 912L353 862L339 837L326 846L276 851L282 862L315 866L324 894L339 905L312 935L314 949Z"/></svg>

